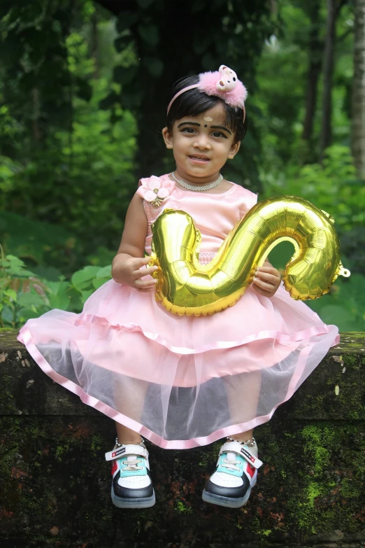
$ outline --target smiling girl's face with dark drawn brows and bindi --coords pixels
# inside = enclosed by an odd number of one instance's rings
[[[234,143],[225,120],[226,111],[219,103],[197,116],[176,120],[171,133],[164,127],[164,141],[173,150],[180,178],[193,183],[214,181],[227,160],[238,153],[241,143]]]

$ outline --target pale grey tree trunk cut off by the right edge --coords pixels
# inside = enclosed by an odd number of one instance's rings
[[[359,177],[365,178],[365,0],[355,0],[351,146]]]

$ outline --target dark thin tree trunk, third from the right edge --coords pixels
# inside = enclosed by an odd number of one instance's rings
[[[317,106],[317,87],[322,66],[322,41],[320,40],[320,1],[310,5],[310,37],[308,49],[308,73],[306,91],[306,115],[304,118],[302,138],[310,141],[313,133],[313,120]]]

